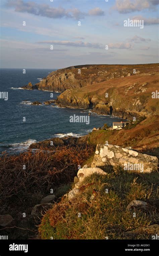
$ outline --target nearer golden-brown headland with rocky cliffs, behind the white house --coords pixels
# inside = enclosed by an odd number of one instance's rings
[[[159,114],[159,100],[152,92],[159,88],[158,71],[119,77],[105,82],[69,89],[58,96],[59,106],[93,108],[99,114],[133,118]]]

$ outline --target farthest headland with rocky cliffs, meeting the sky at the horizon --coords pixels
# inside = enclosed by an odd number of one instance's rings
[[[156,64],[72,66],[53,71],[36,85],[29,83],[22,88],[63,92],[67,89],[89,86],[130,74],[147,73],[150,69],[152,70],[156,67]],[[134,69],[136,69],[136,74],[133,73]]]

